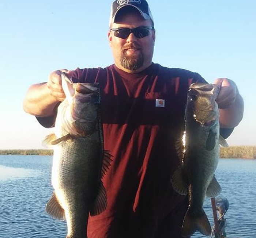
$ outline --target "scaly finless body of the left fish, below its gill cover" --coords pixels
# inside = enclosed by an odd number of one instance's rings
[[[63,141],[54,149],[52,185],[65,210],[69,237],[86,237],[90,207],[99,187],[101,158],[97,132]]]

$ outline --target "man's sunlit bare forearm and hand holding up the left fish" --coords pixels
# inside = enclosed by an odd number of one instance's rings
[[[68,70],[56,70],[50,74],[48,82],[34,84],[29,88],[23,101],[25,112],[38,117],[53,115],[57,103],[65,99],[61,86],[61,72]]]

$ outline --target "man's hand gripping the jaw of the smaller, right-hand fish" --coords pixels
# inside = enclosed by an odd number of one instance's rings
[[[219,108],[225,109],[230,107],[236,100],[237,87],[236,84],[228,78],[217,78],[214,84],[218,84],[221,87],[216,102]]]

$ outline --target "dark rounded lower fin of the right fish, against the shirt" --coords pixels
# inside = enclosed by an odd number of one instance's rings
[[[178,169],[174,172],[172,177],[172,185],[174,190],[181,195],[188,194],[188,179],[184,170],[182,169],[182,166],[178,167]]]

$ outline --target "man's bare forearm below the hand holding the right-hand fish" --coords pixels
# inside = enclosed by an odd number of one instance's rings
[[[222,128],[233,128],[237,126],[244,114],[244,100],[237,92],[236,100],[229,108],[219,109],[219,123]]]

